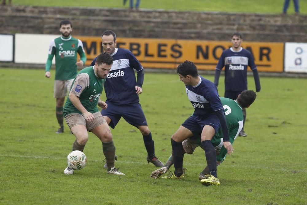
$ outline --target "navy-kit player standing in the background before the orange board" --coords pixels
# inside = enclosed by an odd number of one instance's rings
[[[259,75],[254,57],[248,50],[241,47],[243,41],[240,33],[231,35],[232,47],[223,51],[218,64],[216,65],[214,84],[219,85],[219,78],[223,67],[225,66],[225,98],[235,100],[238,95],[247,90],[247,66],[251,68],[254,74],[256,92],[261,89]],[[243,129],[239,136],[246,137],[244,124],[246,119],[246,110],[243,109]]]

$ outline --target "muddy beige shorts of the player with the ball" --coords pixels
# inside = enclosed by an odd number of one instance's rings
[[[94,115],[93,122],[86,122],[86,119],[84,118],[84,116],[79,113],[68,114],[64,118],[65,118],[65,121],[69,129],[76,125],[84,125],[86,126],[86,129],[88,131],[88,130],[94,129],[95,127],[98,127],[99,125],[103,123],[107,123],[100,112],[95,112],[93,113],[93,115]]]

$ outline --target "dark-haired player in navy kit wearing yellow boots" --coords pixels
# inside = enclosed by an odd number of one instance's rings
[[[185,83],[188,99],[195,110],[192,116],[185,120],[171,137],[175,172],[166,178],[181,179],[184,177],[182,164],[185,152],[182,141],[196,133],[201,133],[201,144],[205,150],[206,161],[210,171],[207,180],[201,183],[204,185],[219,185],[220,181],[216,172],[216,151],[211,139],[220,126],[223,132],[223,145],[228,154],[233,152],[220,96],[214,83],[198,75],[197,68],[193,62],[186,60],[181,63],[177,67],[177,73],[180,76],[180,80]]]

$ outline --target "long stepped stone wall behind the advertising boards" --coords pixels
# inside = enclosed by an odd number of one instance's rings
[[[69,19],[73,34],[228,41],[239,31],[245,41],[307,42],[307,15],[185,12],[109,8],[1,6],[0,33],[59,34]]]

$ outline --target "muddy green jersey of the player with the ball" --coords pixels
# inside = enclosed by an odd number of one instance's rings
[[[99,112],[97,103],[103,91],[104,82],[105,79],[96,76],[94,66],[87,67],[78,73],[72,82],[70,92],[79,97],[81,104],[88,112]],[[67,98],[63,110],[64,117],[72,113],[82,114]]]

